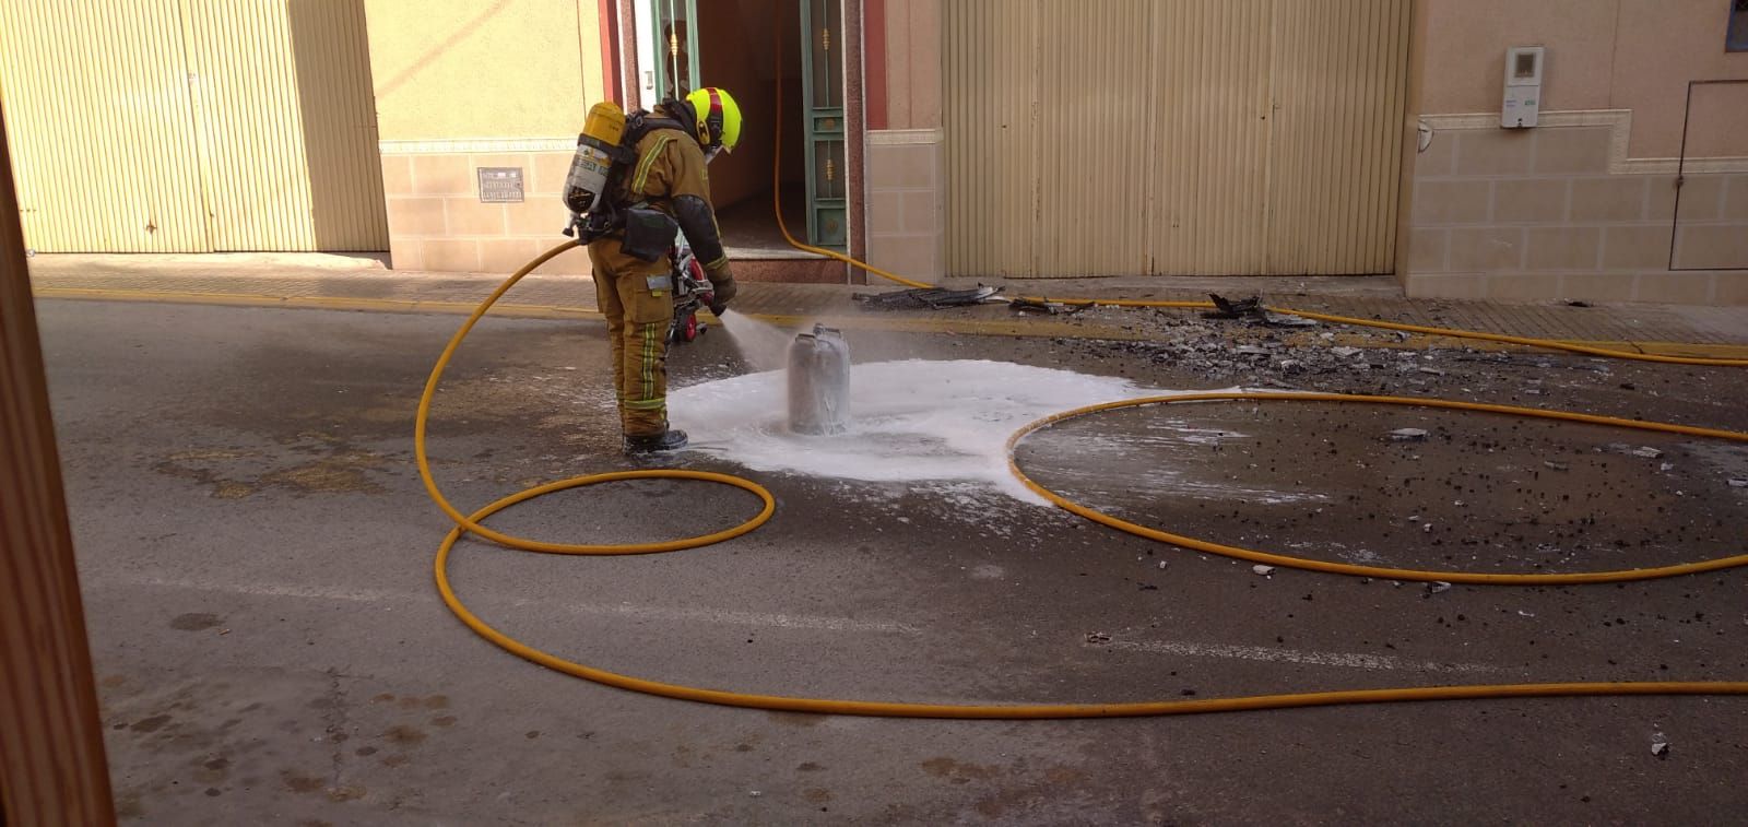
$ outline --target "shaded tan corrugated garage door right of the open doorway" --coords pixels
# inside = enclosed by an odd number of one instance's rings
[[[953,275],[1384,273],[1407,3],[956,0]]]

